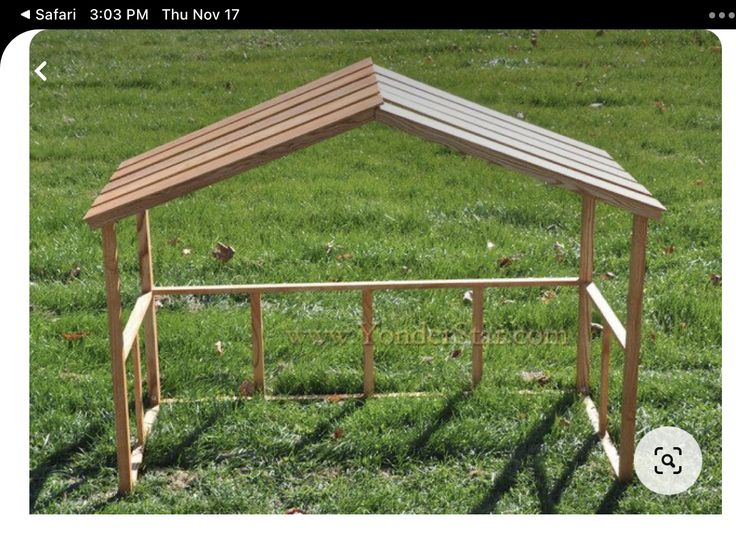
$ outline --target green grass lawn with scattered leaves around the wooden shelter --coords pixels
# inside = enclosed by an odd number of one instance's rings
[[[377,389],[435,395],[167,406],[134,494],[115,496],[100,236],[82,222],[95,193],[121,160],[366,56],[601,146],[668,207],[650,232],[637,437],[663,425],[695,436],[704,465],[689,491],[614,484],[572,394],[577,295],[561,288],[547,304],[540,289],[487,291],[493,330],[552,330],[568,341],[490,346],[472,394],[462,291],[378,293],[380,331],[426,324],[443,341],[379,338]],[[721,511],[713,35],[545,31],[532,47],[527,31],[47,31],[31,48],[31,64],[41,60],[48,81],[31,83],[32,512]],[[159,284],[575,275],[579,199],[372,124],[156,208],[151,221]],[[616,275],[600,284],[623,316],[631,219],[603,205],[597,226],[596,278]],[[119,240],[130,309],[132,221]],[[217,241],[236,249],[227,264],[210,256]],[[555,242],[565,247],[559,260]],[[337,259],[346,253],[352,259]],[[503,256],[514,257],[510,267],[499,266]],[[237,393],[250,367],[245,297],[172,299],[158,316],[166,397]],[[268,296],[264,320],[271,393],[360,391],[358,294]],[[346,338],[298,339],[304,330]],[[88,335],[64,340],[73,331]],[[596,340],[594,376],[598,351]],[[616,349],[615,440],[621,369]],[[550,381],[523,382],[533,370]]]

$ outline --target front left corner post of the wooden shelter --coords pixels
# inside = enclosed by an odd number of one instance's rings
[[[120,274],[115,224],[102,227],[102,255],[107,294],[107,330],[110,336],[112,360],[112,392],[115,408],[115,443],[118,464],[118,489],[121,494],[133,488],[130,465],[130,424],[128,422],[128,389],[123,359],[122,306],[120,302]]]

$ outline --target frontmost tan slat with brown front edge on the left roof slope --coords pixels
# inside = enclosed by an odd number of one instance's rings
[[[124,218],[273,161],[373,120],[374,110],[380,102],[380,97],[376,95],[344,110],[278,134],[245,150],[229,154],[204,167],[192,169],[131,192],[124,198],[95,205],[87,212],[85,220],[93,228],[100,227],[117,218]]]

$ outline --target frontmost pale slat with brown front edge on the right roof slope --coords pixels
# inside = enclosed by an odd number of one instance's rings
[[[662,204],[649,195],[631,191],[544,159],[531,160],[518,150],[392,104],[381,105],[376,112],[376,120],[491,163],[529,174],[553,185],[587,193],[639,215],[659,219],[664,211]]]

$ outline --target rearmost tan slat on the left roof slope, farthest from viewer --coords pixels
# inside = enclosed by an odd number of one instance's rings
[[[357,72],[359,70],[362,70],[366,67],[371,67],[373,65],[373,61],[370,58],[363,59],[355,64],[351,64],[350,66],[347,66],[343,68],[342,70],[338,70],[337,72],[332,72],[331,74],[327,74],[326,76],[323,76],[315,81],[312,81],[310,83],[307,83],[305,85],[302,85],[301,87],[297,87],[293,91],[289,91],[287,93],[283,93],[277,97],[274,97],[272,99],[269,99],[265,102],[261,102],[260,104],[257,104],[253,106],[252,108],[249,108],[243,112],[238,112],[237,114],[231,115],[229,117],[226,117],[225,119],[222,119],[216,123],[213,123],[211,125],[208,125],[206,127],[203,127],[199,130],[196,130],[194,132],[191,132],[189,134],[186,134],[184,136],[181,136],[177,138],[176,140],[172,140],[171,142],[167,142],[166,144],[162,144],[161,146],[158,146],[154,149],[151,149],[149,151],[146,151],[144,153],[141,153],[139,155],[136,155],[135,157],[131,157],[130,159],[123,161],[120,164],[120,168],[125,168],[129,165],[135,164],[143,159],[152,157],[154,155],[157,155],[163,151],[169,150],[171,148],[177,147],[181,144],[184,144],[194,138],[197,138],[199,136],[203,136],[206,134],[211,133],[212,131],[215,131],[217,129],[220,129],[222,127],[231,125],[233,123],[237,123],[238,121],[241,121],[242,119],[246,119],[248,117],[253,116],[254,114],[257,114],[258,112],[261,112],[263,110],[266,110],[268,108],[272,108],[273,106],[276,106],[280,104],[281,102],[287,101],[289,99],[292,99],[294,97],[297,97],[299,95],[308,93],[312,91],[313,89],[317,89],[319,87],[322,87],[324,85],[329,84],[330,82],[343,78],[345,76],[348,76],[352,74],[353,72]]]

